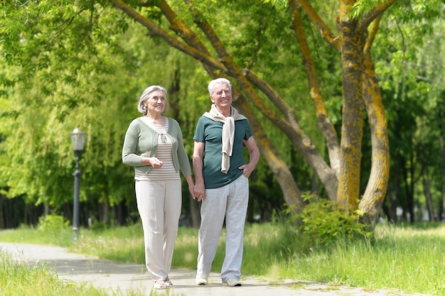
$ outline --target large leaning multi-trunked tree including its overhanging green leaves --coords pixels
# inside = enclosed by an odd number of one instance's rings
[[[109,12],[108,4],[111,3],[124,14]],[[153,40],[163,40],[171,48],[201,62],[210,77],[225,76],[232,80],[234,104],[250,119],[264,160],[279,182],[284,200],[296,212],[304,208],[304,201],[290,170],[291,164],[277,148],[279,143],[272,140],[271,131],[264,128],[267,124],[273,125],[299,150],[329,199],[345,209],[360,209],[364,213],[363,221],[372,224],[380,214],[390,168],[387,121],[372,60],[372,45],[385,11],[397,5],[392,13],[404,21],[404,16],[395,12],[409,9],[410,1],[341,0],[339,6],[334,6],[336,3],[308,0],[263,1],[261,4],[253,0],[82,0],[76,4],[70,1],[34,4],[31,1],[18,5],[14,2],[4,10],[8,22],[18,16],[23,20],[30,12],[32,17],[21,21],[21,26],[6,26],[15,31],[8,31],[1,41],[6,61],[21,66],[22,74],[17,77],[31,75],[35,70],[32,67],[46,69],[53,65],[48,73],[59,70],[65,82],[70,84],[77,81],[73,73],[107,72],[109,62],[102,65],[106,57],[97,58],[101,51],[95,42],[99,40],[112,51],[121,50],[116,36],[119,31],[129,34],[127,30],[135,21],[147,29]],[[440,3],[438,0],[421,1],[412,13],[434,11]],[[333,9],[338,13],[329,18],[332,13],[326,12]],[[39,18],[41,13],[49,13],[50,17]],[[39,22],[45,26],[37,26]],[[41,45],[45,45],[44,50],[36,53],[35,48]],[[79,50],[77,55],[76,48]],[[26,63],[24,53],[31,62]],[[94,57],[92,62],[89,61],[91,57]],[[65,72],[56,67],[65,65],[64,59],[71,63]],[[49,62],[52,60],[60,64]],[[303,70],[298,62],[303,65]],[[326,69],[340,74],[337,89],[323,85],[324,80],[320,77],[328,76]],[[303,75],[306,87],[300,83]],[[96,92],[101,93],[100,86],[105,84],[98,82],[97,77],[101,76],[87,76],[85,82],[95,82]],[[60,81],[54,75],[50,78],[53,84]],[[47,87],[55,88],[55,85]],[[75,94],[73,96],[76,98]],[[301,126],[301,118],[306,114],[299,113],[303,108],[297,102],[309,97],[323,142],[314,142],[313,137],[308,136],[308,128]],[[341,102],[335,102],[338,97]],[[68,104],[95,102],[92,98],[82,98],[81,101],[73,98],[68,99]],[[340,105],[341,128],[338,129],[333,122],[339,111],[336,106]],[[367,174],[361,172],[360,166],[363,163],[365,114],[372,143],[370,172]],[[326,157],[324,149],[327,150]],[[363,175],[369,175],[369,178],[361,192],[360,178]]]

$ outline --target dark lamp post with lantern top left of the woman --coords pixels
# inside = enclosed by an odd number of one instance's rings
[[[73,143],[73,150],[76,156],[76,170],[73,173],[74,176],[74,209],[73,209],[73,241],[77,240],[77,234],[79,232],[79,190],[80,190],[80,170],[79,170],[79,160],[80,155],[83,151],[83,146],[85,146],[85,139],[87,134],[80,131],[79,128],[75,128],[73,133],[71,133],[71,142]]]

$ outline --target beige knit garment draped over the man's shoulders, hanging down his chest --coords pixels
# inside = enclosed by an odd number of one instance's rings
[[[221,161],[221,172],[227,174],[230,168],[230,156],[232,156],[233,139],[235,138],[235,120],[247,119],[238,113],[237,109],[230,106],[230,116],[225,117],[218,111],[215,104],[212,104],[210,112],[205,112],[203,116],[223,123],[223,160]]]

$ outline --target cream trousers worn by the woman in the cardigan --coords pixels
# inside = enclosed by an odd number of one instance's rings
[[[136,180],[135,188],[144,229],[146,268],[155,282],[165,280],[178,236],[181,180]]]

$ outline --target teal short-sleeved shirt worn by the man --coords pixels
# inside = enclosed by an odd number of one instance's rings
[[[238,167],[245,165],[242,154],[242,141],[252,136],[249,121],[247,119],[235,121],[235,138],[233,141],[232,156],[230,157],[230,168],[227,174],[221,172],[221,161],[223,159],[223,123],[213,121],[208,117],[201,116],[196,125],[193,140],[202,142],[204,147],[203,177],[205,189],[223,187],[235,181],[242,175]]]

